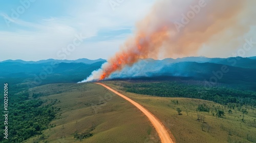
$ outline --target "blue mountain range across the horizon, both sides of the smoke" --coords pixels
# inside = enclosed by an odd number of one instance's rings
[[[52,63],[55,63],[52,65]],[[0,62],[0,82],[47,83],[78,82],[101,67],[106,60],[7,60]],[[228,72],[222,72],[223,66]],[[187,77],[193,80],[243,85],[256,89],[256,56],[250,58],[186,57],[178,59],[141,59],[110,78]],[[40,81],[40,82],[39,82]]]

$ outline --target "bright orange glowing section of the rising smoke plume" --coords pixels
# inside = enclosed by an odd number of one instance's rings
[[[117,70],[121,70],[125,65],[133,65],[139,59],[148,58],[148,53],[153,48],[158,49],[168,37],[166,27],[146,35],[143,32],[138,32],[134,39],[128,40],[125,45],[129,48],[117,52],[109,61],[109,66],[103,69],[103,73],[100,75],[99,80],[103,80],[106,77]],[[132,42],[135,41],[135,42]]]

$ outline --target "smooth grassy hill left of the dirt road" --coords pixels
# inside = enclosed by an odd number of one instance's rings
[[[59,111],[49,129],[25,142],[159,142],[136,107],[100,85],[47,84],[31,89],[30,98],[33,93],[40,93],[45,104],[56,100]]]

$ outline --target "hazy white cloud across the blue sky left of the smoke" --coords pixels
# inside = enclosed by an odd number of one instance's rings
[[[7,59],[41,60],[59,59],[57,51],[67,47],[75,34],[96,36],[102,29],[117,30],[123,27],[134,28],[153,5],[153,1],[124,1],[115,11],[108,1],[97,1],[93,5],[73,5],[67,7],[66,17],[48,17],[40,20],[26,21],[22,17],[12,21],[11,26],[0,31],[0,61]],[[10,18],[7,14],[0,16]],[[11,20],[11,19],[9,19]],[[115,40],[82,44],[67,59],[108,58],[113,55],[125,37]],[[102,52],[101,52],[102,51]]]

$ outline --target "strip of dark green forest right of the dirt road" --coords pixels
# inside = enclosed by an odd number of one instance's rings
[[[121,82],[125,92],[160,97],[184,97],[214,101],[222,105],[255,107],[256,92],[224,86],[206,88],[202,84],[181,81],[162,82]]]

